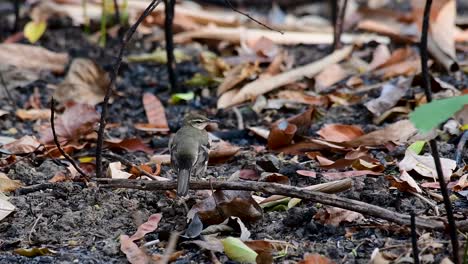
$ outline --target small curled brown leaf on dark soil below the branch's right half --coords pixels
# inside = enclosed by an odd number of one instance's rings
[[[354,222],[364,219],[364,216],[360,213],[341,209],[338,207],[326,206],[324,209],[317,212],[314,219],[318,220],[322,224],[339,226],[343,222]]]

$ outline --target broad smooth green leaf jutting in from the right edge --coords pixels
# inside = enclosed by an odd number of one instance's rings
[[[410,114],[410,120],[417,129],[426,133],[452,117],[465,104],[468,104],[468,95],[434,100],[417,107]]]

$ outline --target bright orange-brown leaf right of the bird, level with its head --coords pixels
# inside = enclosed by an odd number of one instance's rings
[[[317,134],[325,140],[340,143],[356,139],[364,135],[364,132],[355,125],[328,124],[317,131]]]

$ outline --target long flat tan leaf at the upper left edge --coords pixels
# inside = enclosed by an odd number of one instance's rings
[[[69,61],[67,53],[56,53],[42,47],[25,44],[0,44],[2,64],[34,70],[63,73]]]

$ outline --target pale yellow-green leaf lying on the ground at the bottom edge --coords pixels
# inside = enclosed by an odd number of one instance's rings
[[[240,239],[235,237],[227,237],[222,240],[224,253],[237,262],[241,263],[256,263],[257,252],[253,251]]]

